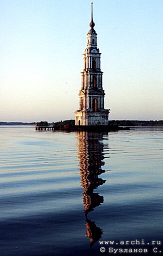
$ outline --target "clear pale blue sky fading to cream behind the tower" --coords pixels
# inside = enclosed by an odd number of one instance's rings
[[[74,119],[88,0],[0,0],[0,121]],[[163,1],[94,0],[109,119],[163,119]]]

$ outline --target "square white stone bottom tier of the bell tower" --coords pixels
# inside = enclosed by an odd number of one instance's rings
[[[100,112],[75,111],[75,125],[108,125],[109,110]]]

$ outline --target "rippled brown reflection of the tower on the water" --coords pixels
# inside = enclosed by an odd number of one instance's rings
[[[83,187],[83,204],[86,217],[86,236],[90,239],[90,246],[101,238],[102,229],[95,225],[94,221],[88,219],[87,214],[93,211],[95,207],[103,203],[103,196],[93,193],[93,190],[99,185],[105,183],[105,180],[98,178],[105,171],[101,169],[104,165],[103,133],[80,132],[78,135],[78,155],[80,160],[81,186]]]

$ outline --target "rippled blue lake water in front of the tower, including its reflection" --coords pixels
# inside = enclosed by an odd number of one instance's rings
[[[0,256],[162,255],[162,134],[0,126]]]

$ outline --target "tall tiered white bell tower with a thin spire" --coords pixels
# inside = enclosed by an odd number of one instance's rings
[[[94,30],[92,3],[90,30],[87,33],[87,47],[83,54],[79,109],[75,111],[75,125],[107,125],[109,109],[104,109],[104,90],[100,53],[97,48],[97,34]]]

